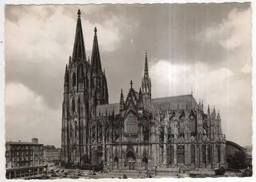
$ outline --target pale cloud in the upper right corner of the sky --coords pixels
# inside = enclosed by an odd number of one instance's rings
[[[244,67],[246,72],[250,73],[248,66],[251,66],[251,18],[249,17],[251,17],[251,9],[246,11],[233,9],[222,23],[198,33],[196,40],[203,43],[218,42],[229,52],[226,60],[223,60],[229,69],[240,71],[241,67]],[[231,64],[234,61],[236,64]]]

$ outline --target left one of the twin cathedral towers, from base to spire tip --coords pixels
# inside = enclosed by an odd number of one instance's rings
[[[87,151],[89,137],[90,69],[84,48],[80,10],[77,15],[73,54],[65,71],[61,138],[63,163],[80,162]]]

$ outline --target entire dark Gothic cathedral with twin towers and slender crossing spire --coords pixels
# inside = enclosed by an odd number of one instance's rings
[[[220,113],[204,113],[193,93],[152,98],[147,54],[136,89],[109,103],[97,29],[87,59],[78,10],[73,54],[66,65],[62,103],[62,164],[103,164],[104,169],[155,171],[185,166],[214,169],[226,163]],[[121,68],[120,68],[121,69]],[[129,84],[129,83],[127,83]]]

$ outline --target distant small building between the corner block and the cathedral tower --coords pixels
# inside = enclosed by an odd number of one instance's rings
[[[44,146],[44,162],[45,164],[54,164],[60,160],[60,152],[53,145]]]

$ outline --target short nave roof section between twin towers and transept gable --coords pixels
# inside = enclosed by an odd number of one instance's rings
[[[105,105],[98,105],[96,107],[96,116],[99,116],[99,112],[101,116],[105,116],[106,112],[112,115],[113,112],[113,108],[114,108],[114,113],[115,115],[119,114],[119,110],[120,110],[120,104],[118,103],[109,103],[109,104],[105,104]]]

